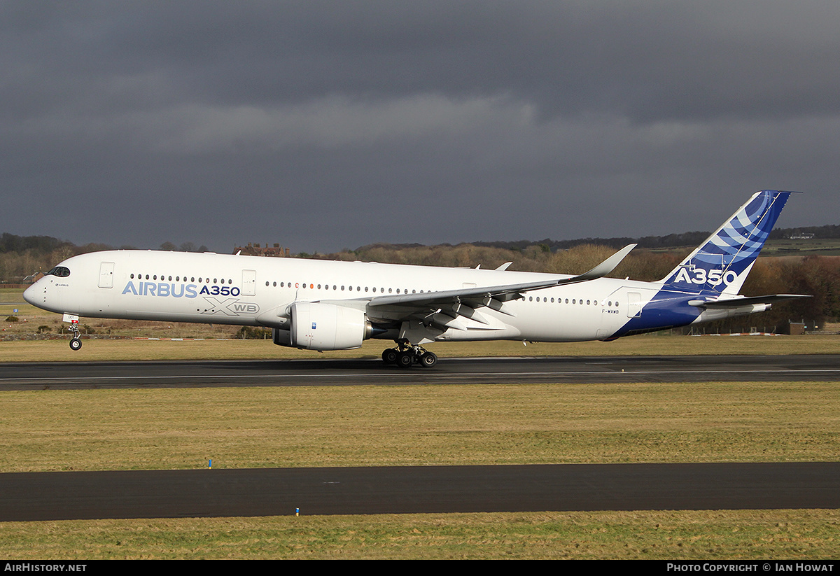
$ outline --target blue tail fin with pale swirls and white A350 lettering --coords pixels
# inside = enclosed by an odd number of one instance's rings
[[[738,294],[791,192],[756,192],[671,270],[665,290]]]

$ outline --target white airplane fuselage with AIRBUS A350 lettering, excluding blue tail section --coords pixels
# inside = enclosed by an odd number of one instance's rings
[[[61,265],[69,275],[47,275],[38,280],[26,291],[27,301],[81,317],[280,328],[288,326],[289,308],[295,302],[341,302],[341,306],[364,310],[371,322],[388,322],[393,306],[391,312],[379,310],[368,306],[371,300],[569,277],[139,250],[81,254]],[[638,315],[660,287],[657,283],[602,278],[529,291],[522,299],[505,302],[502,312],[481,307],[478,319],[459,317],[457,326],[444,329],[433,339],[605,339]]]

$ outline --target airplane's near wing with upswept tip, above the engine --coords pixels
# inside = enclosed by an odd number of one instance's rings
[[[579,282],[586,282],[589,280],[596,280],[603,278],[624,259],[630,250],[634,249],[636,244],[629,244],[619,250],[616,254],[612,254],[609,258],[598,264],[592,270],[584,272],[581,275],[571,276],[570,278],[562,278],[555,280],[545,280],[540,282],[527,282],[523,284],[507,284],[497,286],[477,286],[475,288],[460,288],[458,290],[446,290],[438,292],[423,292],[423,294],[402,294],[396,296],[379,296],[370,299],[368,306],[435,306],[442,304],[450,304],[454,301],[480,300],[485,301],[492,299],[500,302],[509,300],[516,300],[522,297],[522,292],[532,290],[540,290],[543,288],[553,288],[554,286],[562,286],[567,284],[577,284]]]

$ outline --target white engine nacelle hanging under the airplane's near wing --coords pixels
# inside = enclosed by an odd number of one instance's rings
[[[372,327],[365,312],[320,302],[291,305],[291,327],[274,328],[274,343],[307,350],[349,350],[370,338]]]

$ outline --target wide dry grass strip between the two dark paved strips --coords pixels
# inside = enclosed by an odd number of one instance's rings
[[[39,390],[0,470],[834,460],[834,383]]]

